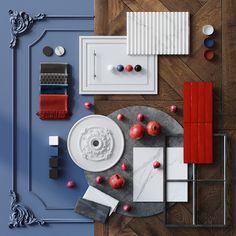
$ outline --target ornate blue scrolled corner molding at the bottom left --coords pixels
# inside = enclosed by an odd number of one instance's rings
[[[26,225],[39,224],[43,225],[45,222],[34,216],[34,213],[23,204],[18,202],[16,193],[10,190],[11,196],[11,215],[9,221],[9,228],[25,227]]]

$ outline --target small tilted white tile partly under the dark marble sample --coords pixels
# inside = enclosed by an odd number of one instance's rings
[[[87,191],[85,192],[84,199],[87,199],[89,201],[93,201],[93,202],[97,202],[100,203],[102,205],[111,207],[110,210],[110,215],[112,214],[112,212],[114,212],[118,206],[119,201],[113,197],[111,197],[110,195],[100,191],[97,188],[94,188],[92,186],[89,186]]]

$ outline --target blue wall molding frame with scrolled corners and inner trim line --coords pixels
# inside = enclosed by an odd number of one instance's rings
[[[16,140],[16,134],[17,134],[17,127],[16,127],[16,120],[17,120],[17,103],[16,103],[16,79],[17,79],[17,39],[19,36],[23,35],[26,33],[32,25],[35,23],[35,21],[43,20],[43,19],[55,19],[55,20],[94,20],[94,16],[88,16],[88,15],[46,15],[44,13],[40,13],[36,15],[35,17],[29,16],[27,13],[23,11],[13,11],[9,10],[9,15],[10,15],[10,23],[11,23],[11,35],[12,39],[10,42],[9,47],[12,49],[12,88],[11,88],[11,93],[12,93],[12,183],[11,183],[11,191],[10,191],[10,196],[12,198],[11,201],[11,214],[10,214],[10,220],[9,220],[9,227],[10,228],[15,228],[15,227],[25,227],[27,225],[32,225],[32,224],[46,224],[46,223],[92,223],[93,220],[90,219],[70,219],[70,218],[43,218],[43,219],[38,219],[34,216],[32,210],[29,208],[25,207],[23,204],[18,202],[17,196],[19,196],[16,193],[17,189],[17,179],[16,179],[16,174],[17,174],[17,153],[15,150],[15,146],[17,144]],[[93,32],[92,30],[78,30],[78,29],[50,29],[50,30],[44,30],[44,32],[40,35],[38,39],[36,39],[29,47],[28,47],[28,75],[29,75],[29,88],[31,87],[31,81],[30,81],[30,76],[31,76],[31,47],[36,45],[44,36],[47,32]],[[30,96],[31,98],[31,96]],[[29,105],[29,116],[31,114],[31,101],[28,103]],[[31,132],[31,120],[29,119],[29,131]],[[30,143],[31,145],[31,143]],[[29,166],[31,165],[31,148],[29,147]],[[29,167],[29,179],[31,178],[31,169]],[[29,189],[31,191],[31,180],[29,180]],[[33,193],[33,192],[32,192]],[[40,199],[37,194],[33,193],[45,206],[45,209],[47,210],[73,210],[73,209],[58,209],[58,208],[50,208],[47,207],[46,204]]]

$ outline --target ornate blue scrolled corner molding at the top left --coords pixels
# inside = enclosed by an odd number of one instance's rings
[[[17,43],[17,39],[20,35],[27,32],[35,21],[43,20],[46,18],[46,14],[39,13],[38,15],[31,17],[27,13],[23,11],[8,11],[10,15],[10,23],[11,23],[11,36],[12,39],[10,41],[10,48],[14,48]]]

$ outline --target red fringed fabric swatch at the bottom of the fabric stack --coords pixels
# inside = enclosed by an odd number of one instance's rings
[[[41,94],[40,109],[37,115],[42,120],[64,120],[70,116],[68,95]]]

